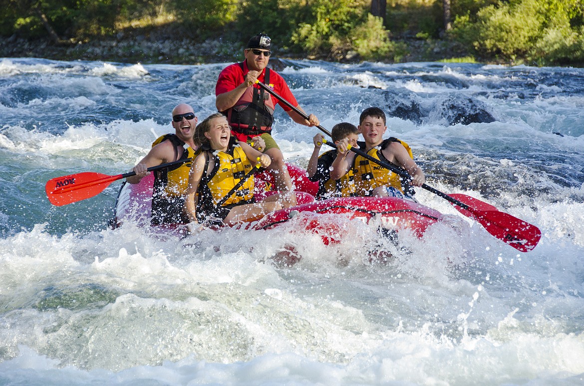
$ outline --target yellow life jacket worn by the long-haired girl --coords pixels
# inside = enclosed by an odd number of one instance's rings
[[[203,201],[210,196],[210,206],[217,205],[232,189],[237,185],[245,174],[252,170],[253,165],[249,162],[241,146],[235,143],[235,138],[231,137],[230,146],[228,146],[227,153],[213,152],[215,156],[215,164],[213,170],[207,176],[201,178],[199,187],[203,188],[203,192],[199,192],[199,201]],[[208,168],[210,157],[207,157],[205,162],[205,169]],[[253,176],[241,185],[235,192],[232,192],[230,197],[221,206],[237,205],[242,201],[249,201],[253,198]],[[201,202],[202,203],[202,202]],[[210,208],[211,208],[210,207]]]

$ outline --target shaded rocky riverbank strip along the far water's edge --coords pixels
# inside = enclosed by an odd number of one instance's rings
[[[399,62],[426,62],[453,60],[465,57],[456,44],[442,40],[402,40],[404,54]],[[48,37],[25,40],[12,36],[0,40],[0,57],[5,58],[46,58],[55,60],[88,60],[142,64],[201,64],[230,62],[241,59],[242,47],[239,43],[217,38],[197,42],[190,38],[176,38],[161,33],[119,33],[116,36],[95,41],[77,41],[54,44]],[[274,57],[293,59],[322,59],[356,63],[360,61],[355,52],[339,52],[335,58],[298,55],[274,47]],[[457,59],[454,59],[457,60]],[[388,61],[390,62],[390,61]]]

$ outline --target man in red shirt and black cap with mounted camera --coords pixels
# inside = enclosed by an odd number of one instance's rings
[[[286,81],[276,71],[266,68],[272,54],[271,44],[272,40],[266,34],[253,36],[249,40],[244,50],[245,60],[229,65],[221,71],[215,85],[217,96],[215,105],[217,110],[227,115],[231,132],[239,141],[253,142],[254,148],[270,156],[272,159],[270,171],[276,180],[276,188],[290,192],[284,196],[282,202],[282,205],[287,207],[296,205],[296,196],[293,194],[292,181],[284,163],[284,156],[270,135],[274,108],[276,104],[280,104],[294,122],[308,127],[317,126],[319,120],[314,114],[308,115],[308,120],[305,120],[296,111],[255,84],[256,80],[265,83],[304,113]],[[258,139],[258,136],[261,139]]]

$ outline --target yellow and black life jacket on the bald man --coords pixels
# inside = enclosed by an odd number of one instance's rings
[[[174,160],[182,160],[190,158],[194,160],[194,157],[200,153],[200,151],[193,150],[190,146],[187,146],[185,142],[181,141],[176,134],[165,134],[159,136],[156,141],[152,142],[152,147],[162,143],[166,140],[172,142],[175,149]],[[178,156],[178,148],[183,148],[185,151],[182,152],[180,157]],[[177,197],[186,194],[187,184],[189,183],[189,171],[190,171],[191,161],[169,167],[166,169],[161,169],[155,171],[154,174],[154,192],[155,195],[164,193],[169,197]]]

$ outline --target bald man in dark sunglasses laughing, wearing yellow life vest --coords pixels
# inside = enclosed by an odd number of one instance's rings
[[[150,152],[132,169],[135,176],[126,178],[130,184],[137,184],[150,174],[149,167],[177,160],[194,159],[198,146],[193,135],[197,125],[194,110],[186,103],[178,104],[172,110],[174,134],[160,136]],[[152,225],[189,223],[184,212],[186,188],[189,181],[190,161],[155,171],[154,191],[152,192]]]

